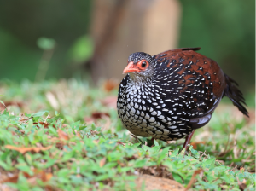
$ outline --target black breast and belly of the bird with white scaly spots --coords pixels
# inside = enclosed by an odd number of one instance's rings
[[[127,75],[119,86],[117,103],[125,128],[136,136],[152,136],[165,141],[188,136],[192,131],[188,120],[177,118],[176,112],[166,107],[169,99],[164,97],[152,79],[134,84]]]

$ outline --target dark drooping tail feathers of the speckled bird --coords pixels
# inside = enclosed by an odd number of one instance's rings
[[[236,87],[236,85],[238,86],[238,84],[228,75],[224,74],[224,76],[227,84],[226,89],[224,90],[224,96],[229,97],[230,100],[233,102],[234,106],[236,106],[241,111],[241,113],[249,117],[246,107],[243,106],[243,104],[245,106],[247,106],[247,104],[245,103],[241,91],[238,90],[238,88]]]

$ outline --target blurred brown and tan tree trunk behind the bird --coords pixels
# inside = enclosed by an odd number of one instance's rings
[[[91,61],[95,83],[124,78],[133,52],[151,55],[174,49],[181,6],[177,0],[95,0],[91,34],[96,49]]]

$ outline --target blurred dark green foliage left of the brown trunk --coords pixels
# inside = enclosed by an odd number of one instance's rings
[[[43,55],[42,46],[37,46],[40,37],[54,39],[56,43],[46,78],[70,78],[80,72],[80,67],[72,66],[69,52],[78,38],[89,33],[91,9],[91,0],[19,1],[15,6],[0,1],[0,78],[35,79]],[[42,43],[44,48],[52,47],[49,41]]]

